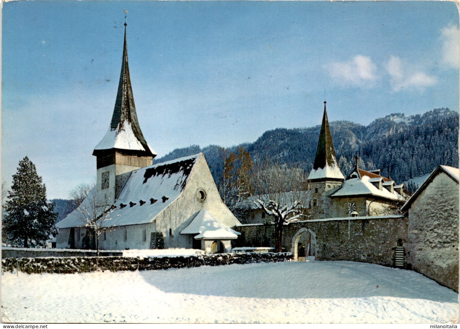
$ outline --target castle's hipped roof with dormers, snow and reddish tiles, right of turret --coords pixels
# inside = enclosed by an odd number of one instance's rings
[[[362,171],[364,172],[364,171]],[[367,173],[367,172],[366,172]],[[375,174],[374,174],[375,175]],[[377,175],[378,176],[378,175]],[[369,196],[376,196],[385,199],[397,200],[402,201],[403,196],[399,193],[390,192],[385,187],[381,190],[376,187],[372,182],[380,181],[380,179],[385,177],[369,177],[367,174],[358,177],[356,171],[351,173],[347,179],[342,183],[340,189],[333,193],[331,197],[348,197],[348,196],[357,196],[357,195],[369,195]],[[393,182],[393,181],[391,181]],[[384,182],[382,185],[391,185],[389,182]],[[394,183],[394,182],[393,182]]]

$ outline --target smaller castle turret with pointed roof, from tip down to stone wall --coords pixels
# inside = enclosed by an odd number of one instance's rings
[[[324,101],[324,114],[322,117],[321,132],[319,134],[318,147],[316,149],[313,169],[308,175],[310,180],[310,210],[311,218],[327,218],[329,209],[329,195],[344,181],[344,175],[340,171],[335,157],[332,143],[331,130],[329,128],[326,101]]]

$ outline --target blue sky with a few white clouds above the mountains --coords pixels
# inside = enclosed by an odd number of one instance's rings
[[[49,198],[95,181],[124,12],[141,129],[163,156],[274,128],[459,108],[449,1],[11,1],[2,10],[2,178],[29,156]]]

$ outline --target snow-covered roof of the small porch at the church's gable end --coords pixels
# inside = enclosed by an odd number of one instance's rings
[[[207,210],[201,210],[180,234],[198,234],[195,239],[236,239],[241,233],[220,223]]]

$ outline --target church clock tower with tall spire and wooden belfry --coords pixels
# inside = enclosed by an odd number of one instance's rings
[[[126,42],[123,45],[120,82],[110,128],[92,153],[97,162],[98,195],[113,203],[133,170],[150,166],[156,156],[139,127],[131,80]],[[102,201],[102,200],[101,200]]]

